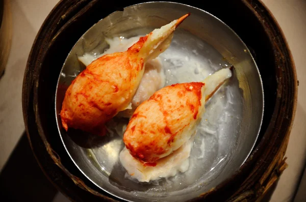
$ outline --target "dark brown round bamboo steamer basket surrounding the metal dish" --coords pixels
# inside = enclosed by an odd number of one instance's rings
[[[213,14],[240,36],[256,60],[265,92],[261,132],[246,162],[231,178],[192,201],[260,201],[287,167],[285,152],[297,101],[296,71],[287,41],[260,1],[177,2]],[[46,177],[73,201],[118,199],[85,178],[64,150],[53,107],[57,78],[71,47],[89,27],[137,3],[141,2],[60,1],[45,19],[29,55],[22,91],[28,138]],[[40,96],[38,86],[44,89]]]

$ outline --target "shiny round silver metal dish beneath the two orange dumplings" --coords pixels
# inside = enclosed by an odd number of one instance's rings
[[[77,56],[85,52],[103,53],[108,48],[105,37],[144,35],[188,12],[191,16],[175,31],[171,46],[160,56],[168,81],[166,85],[194,81],[191,77],[173,79],[177,74],[173,64],[177,61],[171,60],[171,54],[186,58],[186,61],[187,58],[194,60],[207,73],[232,64],[234,76],[206,105],[188,171],[169,179],[137,183],[124,177],[124,168],[118,161],[123,148],[122,132],[128,120],[114,118],[109,126],[116,126],[116,129],[104,137],[70,129],[67,133],[59,117],[64,94],[74,77],[85,68]],[[191,70],[186,67],[186,71]],[[84,34],[63,65],[55,105],[64,146],[75,165],[95,185],[130,201],[185,201],[217,186],[246,160],[262,123],[263,89],[251,54],[228,26],[197,8],[155,2],[112,13]]]

